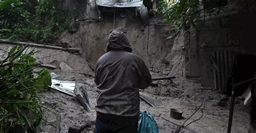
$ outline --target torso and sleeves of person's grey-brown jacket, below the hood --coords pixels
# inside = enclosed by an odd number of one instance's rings
[[[138,116],[139,89],[149,86],[151,75],[137,55],[115,50],[97,61],[95,82],[99,91],[96,111]]]

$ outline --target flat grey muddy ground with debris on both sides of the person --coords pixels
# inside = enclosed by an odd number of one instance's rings
[[[58,62],[55,62],[55,64],[57,65]],[[72,66],[72,64],[68,65]],[[78,66],[84,66],[84,64],[78,64]],[[52,113],[46,110],[45,119],[59,126],[59,129],[55,129],[51,125],[43,122],[38,131],[56,132],[56,130],[60,130],[60,132],[66,132],[70,127],[72,127],[77,129],[84,128],[82,132],[93,132],[96,119],[95,103],[97,96],[96,85],[93,81],[93,77],[90,75],[80,74],[79,69],[75,69],[72,72],[62,72],[58,68],[53,72],[59,75],[59,79],[83,83],[93,106],[91,108],[91,112],[87,112],[75,97],[59,93],[52,89],[41,93],[41,99],[44,105],[58,114],[58,117],[56,118],[56,116],[53,116]],[[194,113],[196,108],[199,107],[201,101],[204,99],[203,106],[201,107],[201,110],[203,110],[204,113],[203,117],[199,121],[188,125],[188,127],[182,131],[226,132],[229,113],[228,106],[223,105],[223,107],[221,107],[220,105],[220,102],[225,95],[220,95],[211,89],[204,89],[201,85],[194,82],[194,80],[183,78],[174,79],[173,82],[170,80],[158,81],[159,87],[149,87],[142,90],[142,92],[147,96],[161,100],[163,108],[153,108],[145,101],[141,100],[140,110],[150,111],[161,132],[171,132],[176,129],[176,125],[165,121],[163,118],[181,125],[186,118]],[[184,112],[183,119],[175,120],[171,118],[170,108],[182,110]],[[242,106],[239,101],[237,102],[234,110],[232,132],[247,131],[249,123],[248,111],[248,108]],[[196,120],[200,116],[201,111],[198,111],[198,113],[196,113],[187,123]]]

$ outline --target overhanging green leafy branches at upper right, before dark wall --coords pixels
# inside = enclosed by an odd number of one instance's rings
[[[218,4],[216,4],[218,3]],[[221,10],[225,11],[223,0],[218,1],[198,1],[198,0],[179,0],[174,3],[167,3],[161,0],[158,11],[169,23],[173,25],[171,36],[177,36],[180,31],[197,29],[204,25],[206,17],[216,16]]]

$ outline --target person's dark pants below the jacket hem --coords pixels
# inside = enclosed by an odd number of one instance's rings
[[[96,133],[138,132],[138,116],[117,116],[97,112]]]

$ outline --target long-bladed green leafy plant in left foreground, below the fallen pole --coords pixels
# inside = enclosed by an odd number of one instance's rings
[[[45,68],[34,71],[35,52],[28,45],[17,45],[0,61],[0,132],[10,132],[17,125],[35,132],[43,120],[37,92],[48,88],[51,76]]]

